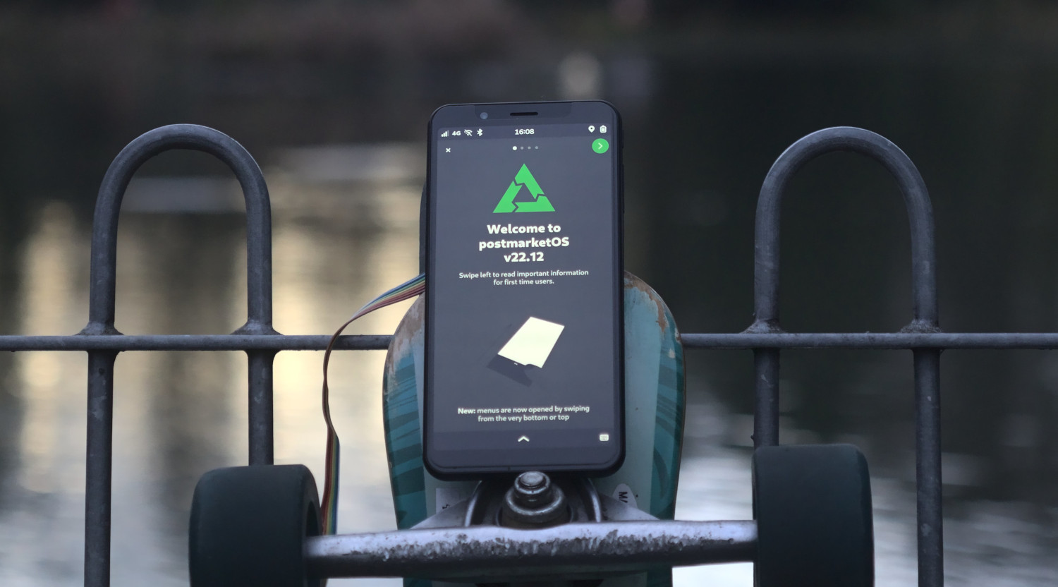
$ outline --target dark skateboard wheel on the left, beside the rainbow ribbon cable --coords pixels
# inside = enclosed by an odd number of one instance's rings
[[[191,500],[194,587],[318,587],[306,576],[306,536],[320,534],[320,500],[302,464],[233,466],[199,479]]]

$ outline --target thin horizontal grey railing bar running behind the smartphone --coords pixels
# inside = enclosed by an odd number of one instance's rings
[[[689,349],[1058,349],[1056,332],[782,332],[682,334]],[[385,350],[388,334],[340,336],[335,350]],[[324,350],[325,334],[0,335],[0,351]]]

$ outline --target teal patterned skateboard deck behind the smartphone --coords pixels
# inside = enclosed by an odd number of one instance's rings
[[[477,487],[477,481],[436,479],[422,464],[424,311],[420,297],[397,327],[383,377],[386,456],[400,529],[470,498]],[[624,463],[592,482],[601,495],[673,519],[683,438],[683,348],[664,301],[630,273],[624,274]],[[416,587],[428,583],[405,580]],[[665,570],[607,579],[603,587],[671,584]]]

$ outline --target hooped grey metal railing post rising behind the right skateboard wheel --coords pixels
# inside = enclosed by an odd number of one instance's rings
[[[933,207],[914,163],[886,137],[852,127],[813,132],[789,146],[772,164],[756,204],[754,242],[755,322],[747,333],[781,333],[779,323],[779,217],[790,178],[805,163],[833,151],[854,151],[881,163],[896,178],[911,223],[911,289],[914,306],[906,333],[940,332],[936,308],[936,255]],[[753,443],[779,443],[779,349],[753,351],[756,412]],[[914,348],[916,405],[916,478],[918,490],[918,584],[944,584],[941,484],[941,350]]]

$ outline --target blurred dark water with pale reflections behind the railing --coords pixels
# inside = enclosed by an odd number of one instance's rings
[[[331,332],[418,272],[425,125],[455,102],[601,97],[625,124],[627,269],[685,332],[752,320],[756,192],[828,126],[879,132],[926,179],[941,325],[1058,331],[1058,4],[934,0],[6,2],[0,6],[0,333],[88,319],[95,190],[142,132],[240,141],[272,195],[275,327]],[[117,328],[226,333],[245,319],[237,184],[201,153],[144,166],[121,220]],[[910,320],[908,223],[877,164],[832,154],[783,210],[784,326]],[[360,320],[389,333],[404,306]],[[395,527],[384,353],[332,363],[340,531]],[[322,353],[275,362],[276,461],[323,478]],[[0,355],[0,584],[81,581],[83,353]],[[688,354],[677,515],[748,518],[752,357]],[[185,585],[190,494],[244,462],[245,359],[129,352],[116,364],[114,585]],[[785,442],[854,442],[874,475],[879,585],[915,581],[908,351],[783,353]],[[1058,582],[1058,355],[942,360],[949,585]],[[678,585],[750,585],[749,565]],[[339,582],[335,582],[339,583]],[[396,585],[394,580],[349,584]]]

